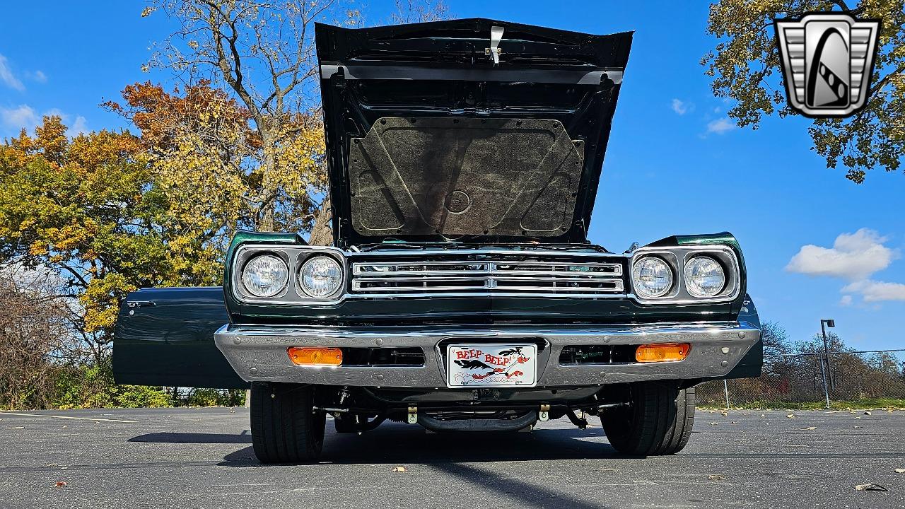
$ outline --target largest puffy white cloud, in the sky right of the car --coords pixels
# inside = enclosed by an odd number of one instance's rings
[[[877,232],[862,228],[837,236],[833,247],[803,245],[786,265],[786,271],[860,281],[899,257],[898,251],[883,245],[886,240]]]

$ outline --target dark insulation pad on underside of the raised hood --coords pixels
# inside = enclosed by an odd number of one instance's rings
[[[558,120],[382,118],[349,149],[360,235],[562,235],[584,145]]]

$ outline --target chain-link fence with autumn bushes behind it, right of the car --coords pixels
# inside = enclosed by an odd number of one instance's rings
[[[765,355],[760,377],[705,382],[697,398],[711,408],[905,407],[905,350]]]

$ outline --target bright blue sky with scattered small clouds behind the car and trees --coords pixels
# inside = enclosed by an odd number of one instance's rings
[[[391,4],[372,0],[365,9],[372,20],[386,19]],[[633,241],[728,230],[745,251],[748,291],[761,317],[781,322],[793,340],[819,331],[821,318],[834,318],[836,332],[855,348],[905,348],[905,175],[874,171],[854,185],[810,149],[810,122],[802,118],[734,128],[699,64],[715,44],[705,32],[706,3],[449,5],[457,17],[596,34],[634,31],[593,242],[621,252]],[[119,98],[129,83],[169,79],[141,72],[149,46],[172,29],[162,15],[141,18],[143,7],[5,6],[0,138],[45,113],[61,114],[76,130],[126,127],[98,104]]]

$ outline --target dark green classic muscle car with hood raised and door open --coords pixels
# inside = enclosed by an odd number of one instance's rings
[[[255,455],[305,462],[328,415],[339,433],[594,416],[621,453],[673,454],[695,385],[760,374],[732,235],[587,239],[595,199],[626,191],[597,185],[631,33],[465,19],[316,40],[334,244],[241,232],[222,288],[130,293],[120,383],[250,384]]]

